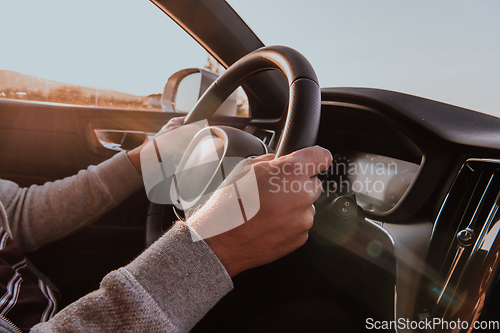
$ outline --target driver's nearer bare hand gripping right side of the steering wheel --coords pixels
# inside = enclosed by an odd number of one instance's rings
[[[279,259],[306,242],[314,221],[312,204],[322,191],[321,181],[313,176],[330,166],[332,155],[315,146],[278,159],[269,154],[250,161],[259,189],[258,213],[232,230],[205,239],[231,277]],[[223,202],[230,195],[225,188],[218,190],[187,223],[196,229],[227,219]]]

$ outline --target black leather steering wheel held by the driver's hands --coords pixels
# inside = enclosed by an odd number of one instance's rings
[[[276,147],[276,158],[295,150],[309,147],[316,142],[321,96],[316,73],[309,61],[299,52],[285,46],[269,46],[257,49],[242,57],[224,72],[198,100],[184,120],[184,124],[209,119],[225,99],[252,75],[278,70],[288,80],[288,108],[282,117],[282,131]],[[229,143],[240,150],[240,156],[248,157],[262,154],[255,146],[262,146],[259,139],[247,132],[220,126],[227,134]],[[252,141],[254,144],[252,144]],[[258,142],[256,145],[255,142]],[[238,144],[236,144],[238,143]],[[242,143],[246,147],[242,150]],[[163,205],[150,205],[146,224],[146,243],[149,245],[162,234]]]

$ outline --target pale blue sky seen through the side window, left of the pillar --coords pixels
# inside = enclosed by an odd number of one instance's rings
[[[0,34],[0,69],[135,95],[207,62],[147,0],[0,0]]]

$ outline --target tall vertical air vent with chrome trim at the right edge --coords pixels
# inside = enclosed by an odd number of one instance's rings
[[[479,316],[497,274],[499,192],[500,161],[463,165],[434,226],[421,316],[469,323]]]

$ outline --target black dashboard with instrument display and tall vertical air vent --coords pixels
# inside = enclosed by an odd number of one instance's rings
[[[372,288],[394,297],[386,313],[498,320],[498,302],[489,309],[478,304],[499,294],[493,286],[500,241],[492,241],[498,235],[499,125],[498,118],[411,95],[322,91],[318,144],[334,155],[322,176],[332,181],[325,191],[354,195],[366,214],[364,221],[342,223],[332,217],[330,204],[315,220],[313,239],[339,244],[379,267],[379,274],[393,273],[379,276]],[[393,251],[392,264],[374,245]],[[358,274],[365,269],[359,264]],[[380,297],[359,293],[369,304],[384,306]]]

